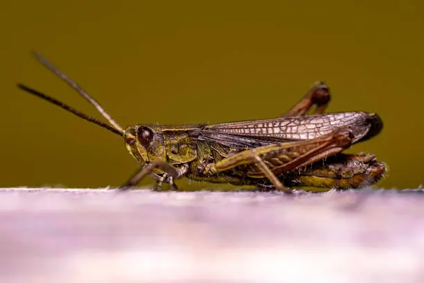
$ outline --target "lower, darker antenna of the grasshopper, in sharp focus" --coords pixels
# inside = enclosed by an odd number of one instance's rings
[[[25,85],[22,85],[20,83],[17,84],[17,87],[19,87],[20,89],[24,90],[25,92],[28,92],[30,94],[33,94],[33,95],[38,96],[40,98],[43,98],[44,100],[46,100],[48,102],[51,102],[51,103],[53,103],[55,105],[58,105],[60,108],[63,108],[64,110],[67,110],[67,111],[75,114],[76,116],[78,116],[78,117],[80,117],[82,119],[85,119],[85,120],[87,120],[87,121],[89,121],[91,123],[95,123],[95,124],[97,124],[100,127],[107,128],[107,130],[110,130],[111,132],[114,132],[116,135],[120,135],[121,137],[123,137],[125,135],[125,132],[123,130],[118,129],[118,128],[115,128],[114,126],[109,125],[108,123],[99,121],[98,119],[96,119],[94,117],[90,117],[90,116],[88,116],[88,115],[86,115],[86,114],[84,114],[84,113],[76,110],[75,108],[72,108],[71,106],[69,106],[69,105],[67,105],[67,104],[65,104],[63,102],[58,101],[57,99],[55,99],[55,98],[53,98],[51,96],[48,96],[46,94],[42,94],[41,92],[38,92],[37,90],[32,89],[30,87],[26,87]]]

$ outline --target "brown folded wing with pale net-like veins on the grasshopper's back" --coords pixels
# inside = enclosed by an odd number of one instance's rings
[[[355,143],[364,139],[373,126],[373,119],[376,116],[366,112],[338,112],[221,123],[202,128],[199,139],[247,149],[287,141],[315,139],[339,128],[349,127],[353,130]],[[379,117],[378,120],[381,121]],[[378,132],[380,130],[381,128]],[[376,133],[373,134],[376,135]]]

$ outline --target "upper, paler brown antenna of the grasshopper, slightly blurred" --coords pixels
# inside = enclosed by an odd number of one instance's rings
[[[100,112],[100,114],[102,114],[103,117],[105,117],[107,119],[107,121],[109,121],[109,123],[112,124],[112,126],[114,126],[116,129],[123,132],[122,127],[119,126],[118,123],[116,123],[116,121],[114,119],[112,119],[112,117],[110,117],[109,114],[107,114],[106,110],[103,109],[103,107],[94,98],[92,98],[89,94],[87,94],[87,92],[85,92],[85,90],[82,89],[82,87],[80,87],[80,85],[78,85],[73,80],[68,78],[67,75],[63,74],[62,71],[60,71],[60,69],[58,69],[53,64],[51,64],[51,62],[48,62],[48,60],[46,58],[44,58],[42,55],[40,55],[38,52],[33,51],[33,55],[34,55],[35,58],[37,58],[37,60],[40,63],[42,63],[42,65],[44,67],[46,67],[48,70],[52,71],[54,74],[56,74],[57,76],[62,78],[62,80],[64,80],[64,82],[66,82],[70,87],[75,89],[78,92],[78,94],[80,94],[82,97],[87,99],[87,101],[89,101],[89,103],[94,105],[94,107],[97,109],[97,111]]]

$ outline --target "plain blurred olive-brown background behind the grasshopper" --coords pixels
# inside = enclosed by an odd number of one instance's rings
[[[351,149],[389,164],[379,186],[416,188],[423,9],[420,0],[1,1],[0,187],[116,186],[136,169],[118,136],[15,87],[100,117],[31,58],[37,50],[123,126],[278,117],[326,80],[328,111],[382,117],[381,134]]]

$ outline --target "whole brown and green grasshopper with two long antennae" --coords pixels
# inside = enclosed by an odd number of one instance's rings
[[[125,130],[82,87],[39,53],[35,58],[87,99],[109,123],[90,117],[57,99],[18,84],[24,91],[60,106],[76,116],[123,137],[140,168],[119,187],[135,187],[146,175],[155,190],[164,183],[178,190],[175,180],[249,185],[292,192],[294,187],[346,189],[377,182],[386,167],[371,154],[348,155],[352,144],[382,130],[376,113],[325,113],[330,89],[317,82],[282,117],[208,125],[137,124]],[[307,114],[314,109],[312,114]]]

